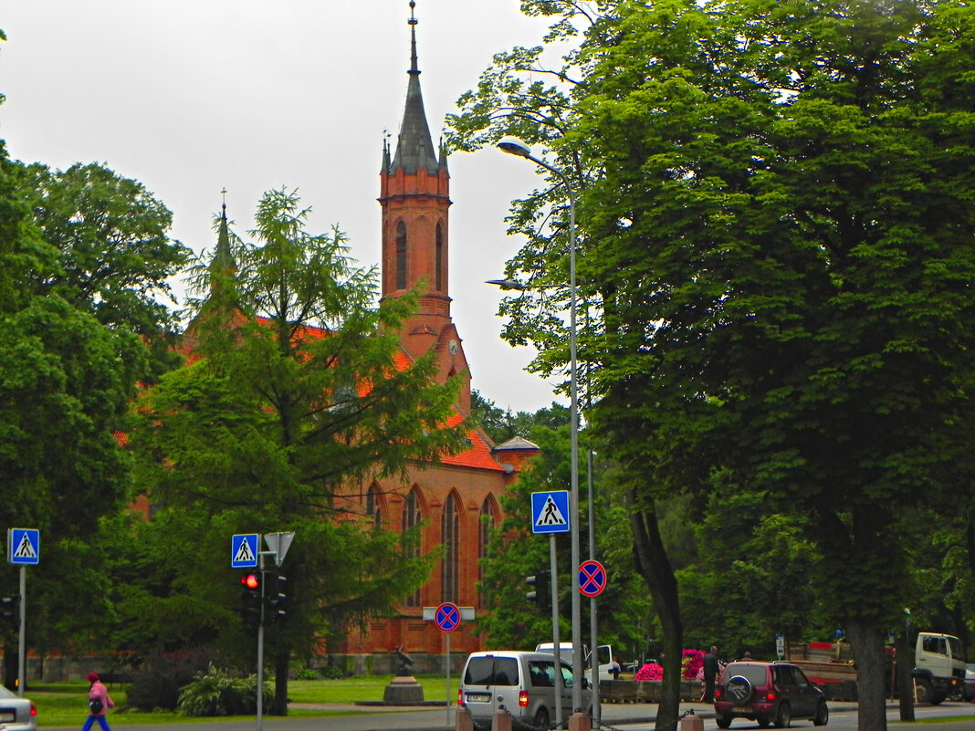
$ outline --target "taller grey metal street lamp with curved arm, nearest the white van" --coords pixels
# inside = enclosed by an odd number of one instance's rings
[[[571,491],[569,492],[569,540],[571,542],[572,563],[572,712],[583,712],[582,708],[582,602],[579,597],[579,372],[576,365],[575,344],[575,195],[568,176],[558,168],[553,168],[531,154],[524,142],[505,139],[498,142],[498,149],[509,155],[530,160],[549,173],[558,175],[565,183],[568,195],[568,359],[569,359],[569,423]],[[592,648],[595,652],[596,648]],[[594,658],[595,660],[595,658]]]

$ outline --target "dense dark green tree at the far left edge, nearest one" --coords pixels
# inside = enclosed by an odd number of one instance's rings
[[[42,533],[29,639],[87,649],[86,629],[108,607],[86,542],[130,496],[130,459],[116,435],[148,358],[131,329],[106,327],[45,289],[62,276],[61,260],[33,220],[21,173],[0,149],[0,518]],[[13,569],[3,573],[13,585]],[[69,596],[92,596],[87,611],[65,606]]]

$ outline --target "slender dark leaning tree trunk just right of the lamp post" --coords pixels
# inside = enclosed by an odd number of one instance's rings
[[[637,571],[643,577],[660,617],[663,631],[664,680],[657,707],[656,731],[674,731],[681,712],[681,653],[683,624],[678,599],[677,577],[660,538],[660,526],[652,502],[636,504],[632,490],[627,493],[633,526],[633,554]]]

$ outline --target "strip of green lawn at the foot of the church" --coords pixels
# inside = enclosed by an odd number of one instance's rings
[[[392,675],[359,675],[341,680],[292,680],[288,683],[288,696],[292,703],[354,704],[358,701],[381,701],[383,690]],[[443,701],[447,692],[447,680],[443,675],[417,675],[423,686],[423,698],[427,701]],[[109,712],[112,726],[132,723],[180,723],[197,722],[205,718],[190,718],[171,712],[141,712],[126,708],[124,686],[108,689],[116,708]],[[450,677],[450,700],[456,698],[457,678]],[[88,715],[88,683],[84,680],[68,682],[33,681],[27,687],[26,697],[37,705],[37,723],[40,726],[78,726]],[[321,716],[344,712],[299,709],[291,715]],[[240,717],[240,716],[238,716]],[[251,718],[253,716],[244,716]],[[242,718],[242,719],[243,719]],[[221,716],[220,720],[232,717]]]

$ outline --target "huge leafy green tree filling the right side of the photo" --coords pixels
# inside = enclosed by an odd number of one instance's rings
[[[455,130],[461,146],[548,142],[575,181],[579,282],[603,333],[580,341],[596,366],[590,417],[629,489],[665,638],[682,627],[658,501],[726,471],[804,518],[817,589],[858,658],[861,728],[883,728],[904,518],[971,484],[973,11],[526,6],[576,21],[567,90],[520,82],[536,52],[496,57]],[[516,205],[530,235],[509,278],[539,277],[539,262],[564,272],[564,208],[554,237],[535,230],[564,206],[553,191]],[[542,366],[565,363],[552,308],[512,307],[508,335],[535,341]]]

